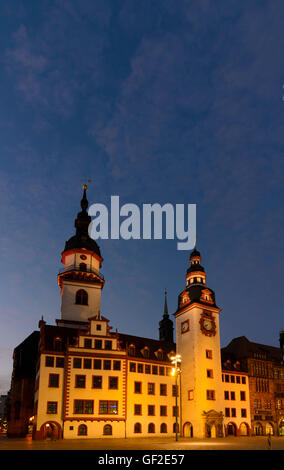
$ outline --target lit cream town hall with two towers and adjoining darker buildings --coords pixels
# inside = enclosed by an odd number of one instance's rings
[[[101,312],[102,256],[86,186],[58,274],[61,316],[14,350],[8,436],[34,439],[284,434],[282,347],[245,337],[220,349],[220,308],[200,252],[159,339],[120,333]],[[283,336],[283,335],[282,335]]]

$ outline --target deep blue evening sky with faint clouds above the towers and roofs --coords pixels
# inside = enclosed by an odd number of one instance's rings
[[[2,0],[0,393],[13,348],[60,317],[60,254],[89,202],[197,204],[221,345],[283,318],[282,0]],[[188,252],[99,243],[102,313],[158,337]]]

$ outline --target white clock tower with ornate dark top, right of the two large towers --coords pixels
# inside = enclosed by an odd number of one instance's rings
[[[194,248],[186,286],[178,297],[177,353],[181,355],[182,435],[223,436],[223,390],[219,312],[207,287],[200,252]]]

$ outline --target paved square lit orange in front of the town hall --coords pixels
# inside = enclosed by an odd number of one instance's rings
[[[268,450],[267,437],[225,437],[223,439],[129,438],[63,439],[33,441],[31,437],[0,437],[0,450]],[[284,450],[284,436],[272,437],[272,450]]]

